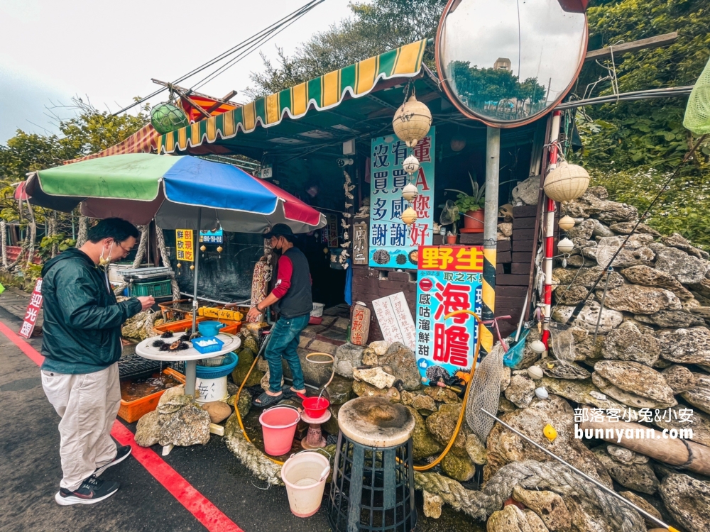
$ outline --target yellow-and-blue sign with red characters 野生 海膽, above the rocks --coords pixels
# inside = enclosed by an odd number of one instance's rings
[[[481,316],[484,253],[481,246],[421,246],[417,272],[417,366],[422,381],[468,372],[474,363]]]

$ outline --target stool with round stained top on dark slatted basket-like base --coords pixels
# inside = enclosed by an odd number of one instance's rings
[[[414,416],[383,397],[360,397],[342,406],[338,426],[327,501],[333,531],[412,531]]]

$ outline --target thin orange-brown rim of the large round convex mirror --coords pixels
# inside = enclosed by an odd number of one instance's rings
[[[507,128],[517,128],[518,126],[525,126],[525,124],[531,123],[536,121],[539,118],[542,118],[542,116],[545,116],[547,113],[550,113],[555,110],[555,107],[559,104],[562,99],[564,99],[567,94],[569,94],[569,91],[572,90],[572,86],[574,85],[574,82],[577,81],[577,78],[579,77],[579,72],[581,72],[581,67],[584,65],[584,57],[586,56],[586,53],[584,56],[581,57],[579,60],[579,65],[577,65],[577,72],[574,74],[574,77],[572,77],[572,80],[569,82],[569,85],[567,85],[567,88],[564,89],[560,93],[559,96],[557,96],[557,99],[550,104],[550,106],[547,106],[545,109],[542,111],[538,111],[532,116],[528,116],[527,118],[521,118],[520,120],[514,120],[514,121],[509,121],[509,122],[499,122],[499,121],[493,121],[491,120],[491,117],[489,116],[484,116],[478,113],[475,113],[468,107],[466,107],[463,102],[459,100],[459,97],[454,93],[451,87],[449,87],[449,84],[447,82],[447,79],[442,79],[442,76],[444,75],[444,67],[442,64],[442,54],[441,54],[441,43],[442,43],[442,31],[444,30],[444,21],[446,20],[447,14],[449,11],[454,8],[456,9],[459,4],[461,4],[461,1],[464,0],[448,0],[446,6],[444,6],[444,12],[442,13],[442,18],[439,19],[439,27],[437,28],[437,37],[436,37],[436,42],[435,42],[435,62],[437,65],[437,74],[439,76],[439,85],[443,87],[444,89],[444,94],[447,95],[449,98],[449,101],[451,101],[452,104],[461,112],[466,118],[471,118],[473,120],[477,120],[480,122],[483,122],[486,124],[486,126],[489,126],[491,128],[499,128],[499,129],[507,129]],[[478,1],[491,1],[491,0],[478,0]],[[558,0],[559,1],[559,0]],[[562,4],[560,3],[560,8],[562,9]],[[566,11],[563,9],[563,11]],[[589,45],[589,21],[587,20],[586,17],[586,11],[584,11],[584,48],[586,49],[587,46]]]

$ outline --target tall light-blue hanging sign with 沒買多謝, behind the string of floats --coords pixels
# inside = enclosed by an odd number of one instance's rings
[[[432,244],[434,215],[435,128],[413,150],[394,135],[372,139],[370,157],[370,267],[417,267],[417,247]],[[408,155],[417,157],[420,169],[413,174],[419,195],[412,207],[417,221],[406,226],[401,220],[408,202],[402,189],[409,175],[402,168]]]

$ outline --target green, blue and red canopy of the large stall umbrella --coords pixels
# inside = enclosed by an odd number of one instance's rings
[[[92,218],[116,216],[164,229],[261,233],[286,223],[294,233],[325,226],[325,216],[244,170],[196,157],[132,153],[111,155],[33,172],[23,192],[33,205],[70,212],[80,205]]]

